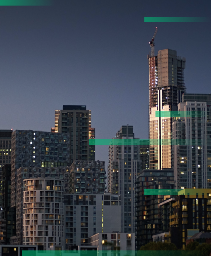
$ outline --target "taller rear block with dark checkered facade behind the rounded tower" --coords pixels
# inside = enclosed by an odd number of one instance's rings
[[[15,130],[11,145],[11,207],[15,207],[17,169],[68,166],[69,134]]]

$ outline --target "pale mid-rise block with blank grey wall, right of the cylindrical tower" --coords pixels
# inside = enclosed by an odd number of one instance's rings
[[[120,232],[120,216],[119,195],[65,194],[65,249],[88,246],[96,233]]]

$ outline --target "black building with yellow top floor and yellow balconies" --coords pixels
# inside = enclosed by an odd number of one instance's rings
[[[210,189],[184,189],[178,192],[172,203],[168,242],[184,249],[186,240],[194,233],[211,231],[210,192]]]

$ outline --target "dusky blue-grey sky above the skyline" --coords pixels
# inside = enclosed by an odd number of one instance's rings
[[[208,16],[211,1],[59,0],[0,6],[0,129],[50,131],[54,110],[86,105],[96,138],[122,125],[148,138],[147,54],[186,57],[187,93],[211,93],[211,22],[144,23],[144,16]],[[211,19],[210,19],[211,21]],[[96,160],[108,163],[108,146]]]

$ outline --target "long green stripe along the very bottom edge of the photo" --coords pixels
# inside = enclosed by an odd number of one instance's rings
[[[95,247],[96,248],[96,247]],[[123,251],[118,250],[118,246],[114,246],[115,250],[82,250],[82,251],[22,251],[23,256],[204,256],[204,251],[167,251],[167,250],[151,250],[151,251]]]

